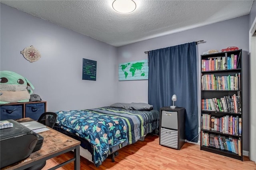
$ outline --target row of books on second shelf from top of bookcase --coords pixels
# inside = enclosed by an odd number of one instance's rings
[[[202,90],[240,90],[240,73],[227,76],[215,76],[214,74],[202,75]]]

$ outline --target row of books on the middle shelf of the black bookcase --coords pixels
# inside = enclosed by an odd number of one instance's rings
[[[237,92],[238,95],[234,94],[232,96],[223,96],[220,99],[202,99],[202,110],[208,111],[220,111],[229,113],[242,113],[240,91]]]

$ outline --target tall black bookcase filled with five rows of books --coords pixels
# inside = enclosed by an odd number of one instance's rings
[[[200,149],[243,160],[242,49],[201,55]]]

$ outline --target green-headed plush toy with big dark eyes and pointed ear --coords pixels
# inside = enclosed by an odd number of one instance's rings
[[[34,86],[23,76],[12,71],[0,71],[0,104],[29,102]]]

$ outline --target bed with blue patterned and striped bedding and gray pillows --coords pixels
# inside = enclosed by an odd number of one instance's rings
[[[96,167],[128,144],[157,132],[159,112],[146,103],[114,103],[109,107],[58,111],[54,129],[81,142],[80,155]]]

